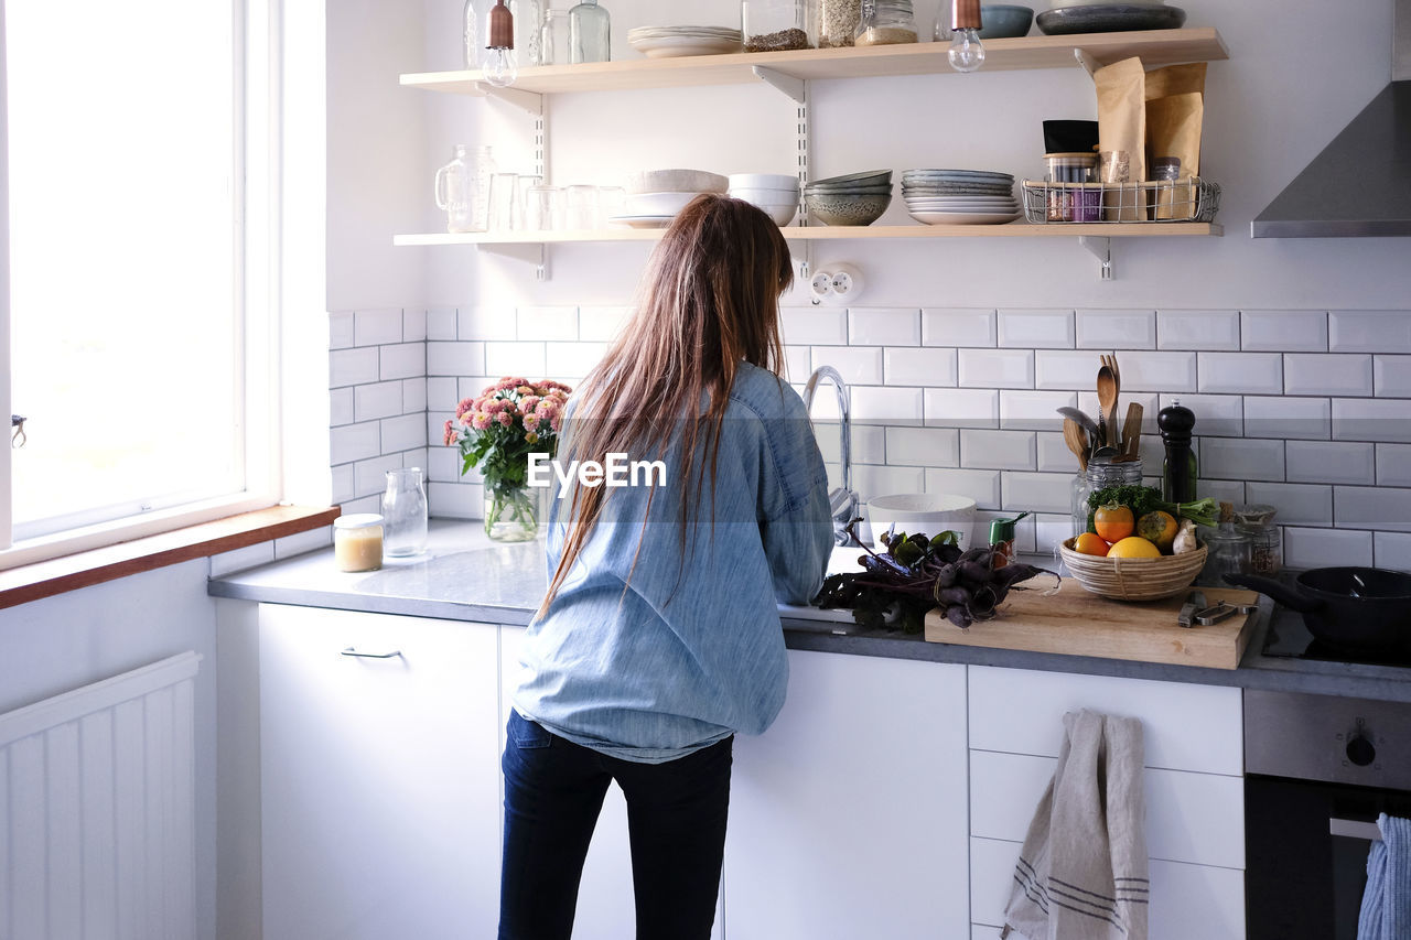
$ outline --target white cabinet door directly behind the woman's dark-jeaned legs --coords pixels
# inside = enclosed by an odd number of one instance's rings
[[[523,627],[501,628],[501,668],[504,677],[501,690],[499,744],[504,748],[505,728],[509,718],[509,697],[518,685],[521,670],[519,644]],[[501,779],[501,785],[504,781]],[[722,936],[720,906],[715,909],[715,926],[711,937]],[[598,826],[593,830],[593,843],[583,864],[583,881],[579,884],[579,909],[573,917],[574,940],[626,940],[636,933],[636,913],[632,900],[632,848],[628,843],[626,802],[617,783],[608,786],[602,800]]]

